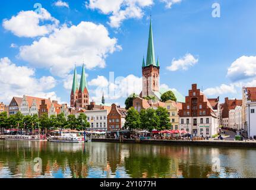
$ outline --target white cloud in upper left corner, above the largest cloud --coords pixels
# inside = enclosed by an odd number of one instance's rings
[[[50,24],[40,25],[40,22],[47,21]],[[10,20],[5,19],[2,24],[5,30],[11,31],[18,37],[45,36],[56,29],[58,25],[59,21],[44,8],[42,8],[42,14],[37,14],[34,11],[20,11]]]

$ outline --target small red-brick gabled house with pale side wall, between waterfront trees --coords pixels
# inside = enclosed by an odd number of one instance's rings
[[[127,110],[113,104],[108,114],[108,131],[120,131],[124,127]]]

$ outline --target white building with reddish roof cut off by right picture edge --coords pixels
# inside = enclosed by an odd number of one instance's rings
[[[248,137],[256,135],[256,87],[243,87],[243,124]]]

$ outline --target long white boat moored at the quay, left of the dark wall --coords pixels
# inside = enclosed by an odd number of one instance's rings
[[[84,138],[77,137],[77,134],[62,134],[61,136],[50,137],[48,141],[54,143],[84,143]]]

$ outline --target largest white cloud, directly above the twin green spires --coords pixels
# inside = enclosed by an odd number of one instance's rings
[[[65,77],[74,68],[104,68],[105,59],[119,50],[115,38],[110,38],[102,24],[82,21],[77,26],[62,26],[49,37],[35,40],[30,46],[21,46],[19,57],[39,68],[50,68],[53,75]]]

